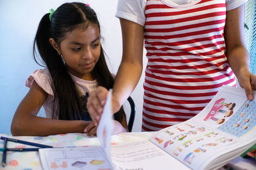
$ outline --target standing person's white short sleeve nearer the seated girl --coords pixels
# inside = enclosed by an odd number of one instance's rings
[[[147,0],[118,0],[116,17],[145,25],[145,6]]]

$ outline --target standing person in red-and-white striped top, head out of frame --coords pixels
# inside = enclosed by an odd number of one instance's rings
[[[143,131],[159,131],[201,111],[222,85],[236,86],[253,99],[256,76],[248,69],[243,42],[245,0],[118,1],[123,58],[113,87],[118,110],[140,80],[143,41],[147,50]],[[132,69],[130,69],[132,67]],[[88,99],[95,125],[107,90]]]

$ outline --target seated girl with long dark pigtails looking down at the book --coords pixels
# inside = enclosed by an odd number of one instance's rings
[[[34,71],[26,81],[30,90],[15,112],[12,134],[47,136],[84,132],[85,127],[95,134],[87,97],[99,85],[113,88],[114,82],[100,45],[95,11],[83,3],[65,3],[45,14],[35,36],[35,60],[36,52],[47,68]],[[46,118],[36,117],[42,106]],[[124,110],[114,117],[116,132],[125,131]]]

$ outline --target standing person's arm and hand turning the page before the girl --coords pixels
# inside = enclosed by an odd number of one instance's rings
[[[116,74],[112,94],[113,113],[116,113],[130,96],[143,68],[143,26],[129,20],[120,19],[123,39],[123,57]],[[97,88],[88,98],[87,108],[95,125],[99,124],[108,90]]]

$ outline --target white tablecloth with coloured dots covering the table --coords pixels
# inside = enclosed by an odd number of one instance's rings
[[[135,141],[142,141],[152,136],[154,132],[132,132],[132,133],[121,133],[112,136],[111,145],[118,145],[121,143],[131,143]],[[13,138],[7,134],[0,134],[0,136]],[[99,140],[95,137],[88,137],[86,134],[72,133],[72,134],[60,134],[54,136],[17,136],[15,139],[24,141],[31,141],[33,143],[41,143],[45,145],[51,145],[54,147],[66,147],[66,146],[99,146]],[[3,140],[0,140],[0,147],[3,148]],[[8,148],[33,148],[33,146],[23,145],[19,143],[13,143],[8,141]],[[0,152],[0,162],[2,160],[3,152]],[[8,152],[6,156],[6,167],[0,166],[0,169],[21,169],[21,170],[34,170],[42,169],[40,164],[40,157],[38,152]],[[256,162],[253,159],[243,159],[237,157],[237,159],[230,162],[234,170],[256,169]],[[224,168],[221,168],[223,170]]]

